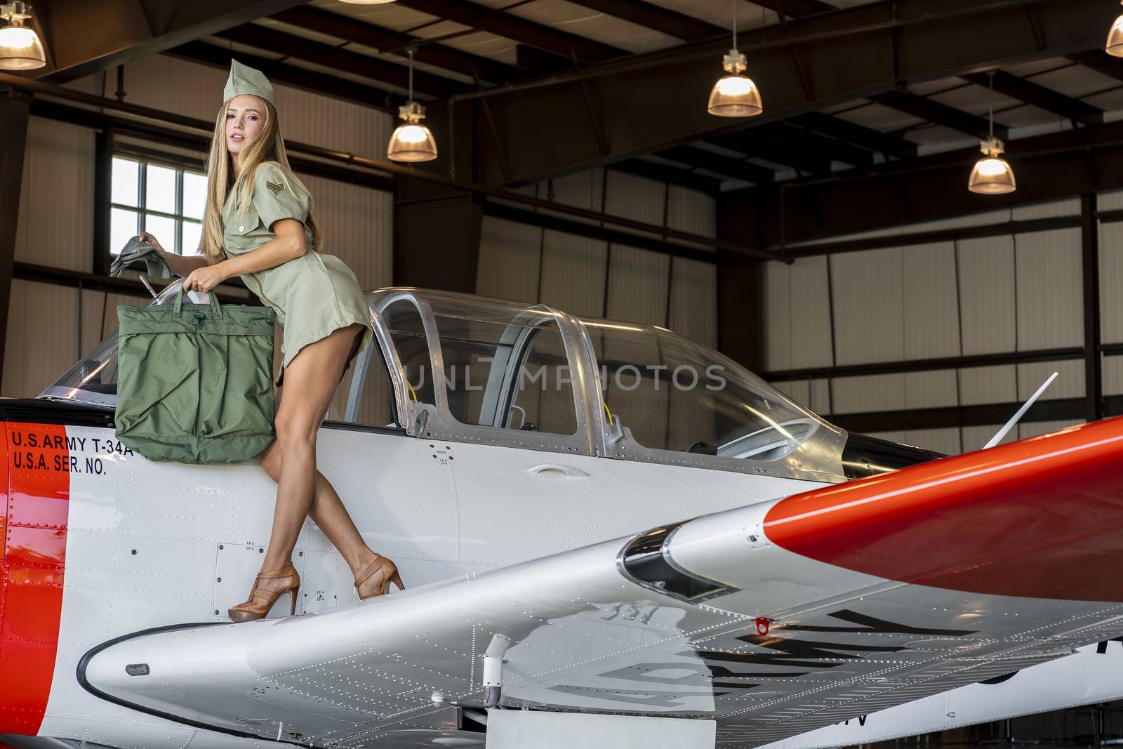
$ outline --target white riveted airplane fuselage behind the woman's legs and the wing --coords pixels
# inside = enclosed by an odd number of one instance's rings
[[[7,428],[13,476],[20,473],[34,485],[36,472],[43,472],[45,479],[67,486],[58,645],[38,736],[122,749],[248,746],[249,739],[99,700],[79,685],[75,668],[91,648],[124,634],[225,621],[226,610],[246,599],[259,568],[275,484],[256,464],[150,463],[122,450],[110,429]],[[35,454],[42,450],[16,450],[13,440],[27,447],[36,435],[34,441],[42,445],[44,435],[63,429],[69,446],[62,460],[39,462]],[[19,472],[16,451],[26,454]],[[367,542],[396,561],[407,586],[822,486],[331,426],[320,430],[318,462]],[[293,564],[302,581],[299,613],[356,600],[349,569],[311,522],[301,532]],[[282,614],[277,606],[272,615]],[[780,743],[784,749],[861,743],[1123,696],[1119,646],[1106,655],[1095,650],[1035,666],[1002,684],[961,687]],[[1039,688],[1041,679],[1057,688]]]

